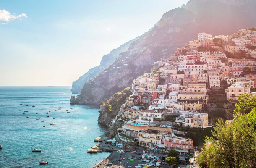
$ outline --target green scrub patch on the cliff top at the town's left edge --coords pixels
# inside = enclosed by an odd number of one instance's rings
[[[107,105],[110,105],[110,107],[107,107],[106,105],[106,108],[109,108],[109,110],[112,110],[112,111],[117,111],[119,110],[119,107],[125,103],[126,99],[128,96],[131,95],[131,92],[130,92],[130,87],[127,87],[125,89],[123,89],[121,92],[117,92],[115,93],[109,100],[107,100],[106,104]]]

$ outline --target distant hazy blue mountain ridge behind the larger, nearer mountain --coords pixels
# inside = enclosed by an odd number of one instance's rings
[[[130,44],[133,41],[134,39],[126,42],[123,45],[120,45],[118,48],[112,50],[109,54],[103,55],[99,66],[89,69],[87,73],[85,73],[78,80],[73,82],[72,89],[71,89],[72,93],[80,94],[85,82],[91,78],[94,78],[100,72],[104,71],[104,69],[106,69],[109,65],[111,65],[116,60],[116,58],[119,57],[119,54],[121,52],[127,51],[127,49],[129,48]]]

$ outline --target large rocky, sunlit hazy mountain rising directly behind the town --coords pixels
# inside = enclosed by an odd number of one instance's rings
[[[76,103],[109,99],[130,86],[134,78],[155,68],[154,61],[170,57],[177,47],[197,39],[198,33],[227,35],[256,26],[255,7],[254,0],[190,0],[181,8],[164,13],[160,21],[131,42],[128,50],[120,53],[104,73],[84,84]]]

